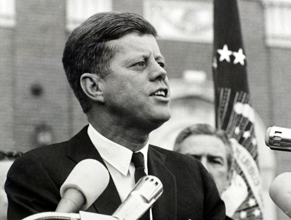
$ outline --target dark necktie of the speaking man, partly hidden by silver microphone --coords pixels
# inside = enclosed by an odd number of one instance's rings
[[[140,178],[146,176],[145,172],[145,160],[143,159],[143,154],[141,152],[132,153],[131,161],[134,164],[135,171],[134,171],[134,180],[135,183],[139,181]],[[139,220],[149,220],[149,210],[146,211]]]

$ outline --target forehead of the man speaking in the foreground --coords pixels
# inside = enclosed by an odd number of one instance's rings
[[[119,56],[125,58],[134,57],[137,54],[144,54],[162,57],[156,38],[152,34],[139,35],[138,33],[125,34],[121,38],[110,41],[117,49]],[[162,57],[163,58],[163,57]]]

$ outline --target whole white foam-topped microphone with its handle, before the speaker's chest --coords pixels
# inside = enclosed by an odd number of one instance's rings
[[[109,183],[109,172],[97,160],[79,162],[60,189],[61,201],[55,212],[79,212],[89,208]]]

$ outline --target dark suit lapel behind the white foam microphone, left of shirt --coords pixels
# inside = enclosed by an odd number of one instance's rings
[[[87,130],[88,126],[85,126],[78,134],[72,137],[70,140],[71,143],[67,150],[67,156],[75,163],[79,163],[84,159],[95,159],[106,167],[102,157],[91,142]],[[91,205],[86,211],[98,212],[104,215],[112,215],[112,213],[115,212],[115,210],[121,204],[121,200],[115,184],[111,175],[109,176],[110,179],[108,186],[99,196],[99,198],[93,203],[93,205]]]

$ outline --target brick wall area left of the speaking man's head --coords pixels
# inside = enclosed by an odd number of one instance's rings
[[[69,137],[70,89],[62,70],[65,1],[15,1],[16,26],[1,29],[1,149],[27,151],[35,126],[46,123]],[[2,65],[3,64],[3,65]],[[42,87],[34,96],[31,87]],[[2,104],[3,103],[3,104]]]

